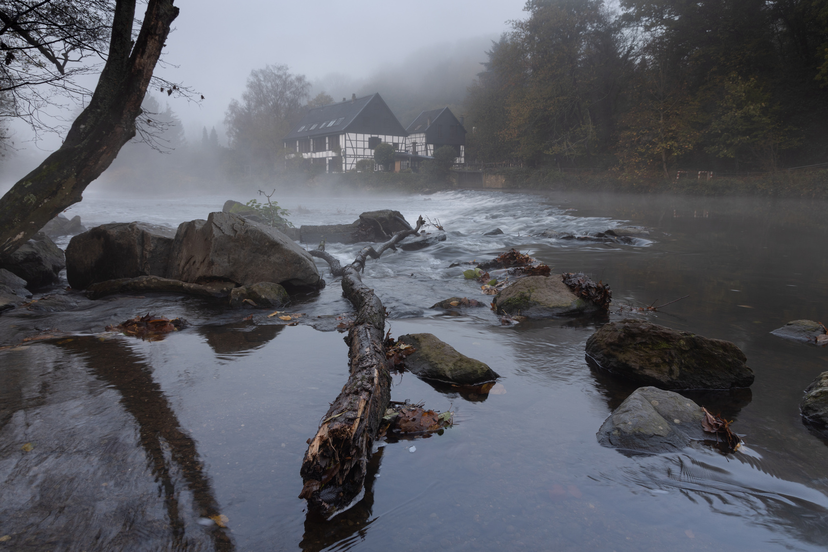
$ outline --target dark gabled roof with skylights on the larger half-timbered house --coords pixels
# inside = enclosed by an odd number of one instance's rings
[[[363,113],[369,104],[373,106],[368,109],[369,113],[365,113],[362,118],[359,118],[359,114]],[[379,116],[375,114],[371,118],[372,113],[377,113]],[[359,121],[357,121],[358,118]],[[354,122],[357,122],[354,127],[359,127],[359,131],[357,132],[393,134],[394,136],[404,136],[405,132],[400,122],[397,121],[397,118],[388,109],[388,105],[383,101],[383,98],[379,94],[371,94],[370,96],[363,96],[362,98],[330,103],[321,108],[310,109],[299,124],[283,139],[300,140],[302,138],[330,136],[331,134],[348,131],[349,126]],[[371,128],[365,129],[364,127],[366,126],[376,126],[377,128],[376,130]]]

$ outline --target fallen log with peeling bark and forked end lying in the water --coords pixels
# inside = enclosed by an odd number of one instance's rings
[[[345,297],[357,310],[354,325],[345,342],[349,345],[350,374],[339,396],[322,418],[302,462],[304,485],[300,498],[325,514],[348,506],[363,489],[373,440],[376,438],[388,402],[391,400],[391,376],[384,345],[385,308],[373,290],[363,284],[359,272],[368,257],[378,259],[387,249],[407,236],[416,235],[416,228],[401,230],[378,249],[364,247],[354,262],[341,266],[324,246],[310,251],[314,257],[330,265],[333,276],[342,276]]]

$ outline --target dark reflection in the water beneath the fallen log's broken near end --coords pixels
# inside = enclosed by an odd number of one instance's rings
[[[377,478],[379,464],[383,460],[385,447],[380,447],[371,455],[365,475],[365,487],[362,499],[348,510],[339,512],[330,520],[320,516],[315,508],[310,508],[305,517],[305,535],[299,543],[303,552],[319,552],[330,545],[337,545],[336,550],[350,550],[368,534],[368,526],[377,518],[373,513],[373,483]]]

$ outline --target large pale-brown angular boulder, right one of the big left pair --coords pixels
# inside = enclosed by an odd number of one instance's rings
[[[275,228],[241,215],[210,213],[181,223],[170,255],[168,277],[193,283],[261,281],[281,285],[321,284],[310,253]]]

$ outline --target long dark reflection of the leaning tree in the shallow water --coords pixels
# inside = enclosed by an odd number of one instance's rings
[[[176,489],[174,474],[180,471],[184,477],[198,516],[218,518],[220,512],[195,441],[181,430],[161,386],[152,379],[152,369],[118,339],[75,338],[59,341],[58,346],[84,358],[94,376],[121,395],[121,404],[137,421],[141,446],[152,473],[161,483],[173,549],[187,550],[190,543],[185,535],[181,490]],[[215,550],[233,550],[224,529],[214,525],[211,534]]]

